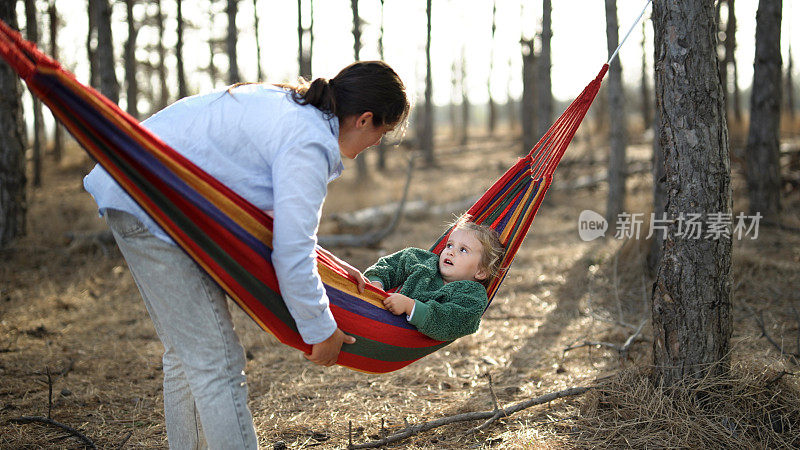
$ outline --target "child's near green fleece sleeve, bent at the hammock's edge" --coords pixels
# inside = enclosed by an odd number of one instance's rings
[[[486,289],[474,281],[454,281],[443,289],[444,301],[416,300],[409,323],[421,333],[440,341],[452,341],[478,331],[489,299]]]

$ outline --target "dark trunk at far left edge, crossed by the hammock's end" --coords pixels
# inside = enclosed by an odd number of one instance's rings
[[[0,20],[17,29],[16,2],[0,2]],[[22,86],[11,68],[0,64],[0,248],[25,234],[25,127]]]

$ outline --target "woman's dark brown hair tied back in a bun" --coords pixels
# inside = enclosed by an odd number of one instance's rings
[[[398,125],[411,109],[403,80],[383,61],[354,62],[330,80],[308,83],[301,78],[299,85],[278,86],[293,90],[297,103],[312,105],[340,121],[371,112],[375,126]]]

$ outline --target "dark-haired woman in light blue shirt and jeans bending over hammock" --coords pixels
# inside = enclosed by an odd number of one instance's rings
[[[274,211],[272,264],[306,357],[329,366],[343,343],[315,266],[327,183],[402,125],[403,82],[386,63],[356,62],[298,87],[234,85],[185,98],[143,125],[239,195]],[[84,180],[111,228],[164,344],[171,447],[257,448],[245,357],[224,292],[101,167]],[[358,270],[348,271],[363,289]],[[201,425],[202,424],[202,425]]]

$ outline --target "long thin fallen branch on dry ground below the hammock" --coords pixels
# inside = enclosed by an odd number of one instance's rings
[[[463,414],[456,414],[454,416],[442,417],[440,419],[432,420],[430,422],[411,425],[383,439],[379,439],[372,442],[365,442],[363,444],[350,445],[349,448],[358,449],[358,448],[381,447],[383,445],[401,441],[415,434],[432,430],[434,428],[438,428],[444,425],[449,425],[452,423],[481,420],[481,419],[492,419],[492,418],[494,418],[494,420],[497,420],[500,417],[510,416],[516,412],[522,411],[523,409],[530,408],[531,406],[540,405],[542,403],[548,403],[553,400],[558,400],[559,398],[581,395],[586,391],[588,391],[589,389],[590,389],[589,387],[571,387],[569,389],[564,389],[562,391],[551,392],[550,394],[545,394],[540,397],[525,400],[523,402],[516,403],[514,405],[508,406],[506,408],[497,411],[476,411]]]

